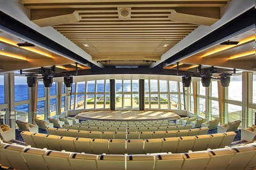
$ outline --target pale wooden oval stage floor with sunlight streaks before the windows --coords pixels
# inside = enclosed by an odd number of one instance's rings
[[[76,115],[81,120],[175,120],[179,115],[172,111],[120,110],[120,111],[83,111]]]

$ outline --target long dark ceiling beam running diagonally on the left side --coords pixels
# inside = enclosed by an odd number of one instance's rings
[[[52,50],[53,52],[57,52],[60,55],[67,56],[70,59],[76,60],[81,64],[92,64],[90,61],[84,59],[80,55],[68,50],[64,46],[56,43],[50,38],[47,38],[43,34],[31,29],[27,25],[15,20],[15,18],[10,17],[3,11],[0,11],[0,29],[3,29],[6,32],[10,32],[16,36],[19,36],[24,39],[31,39],[31,42],[36,42],[40,46],[44,46],[45,48]],[[98,67],[98,66],[95,66]]]

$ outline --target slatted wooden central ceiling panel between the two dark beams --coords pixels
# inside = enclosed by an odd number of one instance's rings
[[[228,0],[20,0],[31,21],[52,26],[106,66],[161,60],[198,25],[220,19]]]

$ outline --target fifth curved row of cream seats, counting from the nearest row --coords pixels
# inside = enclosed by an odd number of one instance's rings
[[[167,126],[175,126],[175,125],[182,125],[181,123],[168,123],[168,124],[132,124],[132,125],[125,125],[125,124],[84,124],[84,123],[76,123],[74,125],[81,125],[81,126],[89,126],[89,127],[167,127]]]

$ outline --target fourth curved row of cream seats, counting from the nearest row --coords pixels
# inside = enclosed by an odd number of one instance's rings
[[[82,131],[99,131],[99,132],[154,132],[154,131],[178,131],[192,129],[191,125],[177,125],[168,127],[88,127],[81,125],[63,125],[65,129],[75,129]]]

